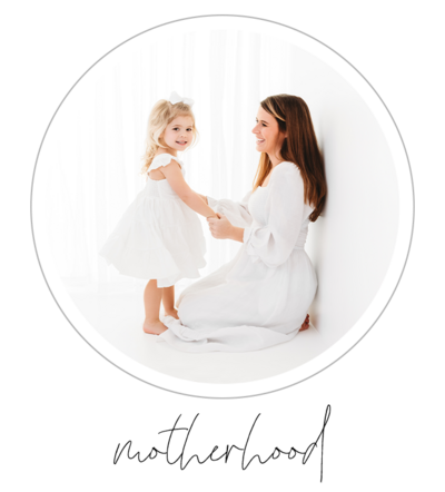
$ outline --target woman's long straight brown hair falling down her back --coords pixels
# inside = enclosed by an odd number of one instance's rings
[[[287,94],[269,96],[260,105],[265,111],[275,117],[279,130],[287,131],[280,155],[284,161],[294,163],[299,168],[305,185],[305,203],[314,207],[309,219],[315,222],[325,205],[327,187],[323,157],[309,108],[300,97]],[[269,156],[261,152],[254,179],[254,191],[263,185],[271,167]]]

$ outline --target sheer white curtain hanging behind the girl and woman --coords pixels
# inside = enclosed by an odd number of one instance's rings
[[[281,92],[300,96],[317,127],[314,109],[320,92],[312,67],[310,57],[287,42],[220,30],[158,43],[145,42],[142,35],[86,72],[43,142],[44,165],[50,166],[47,232],[67,285],[100,289],[140,284],[107,266],[98,250],[145,185],[141,156],[157,100],[172,90],[195,100],[200,138],[181,156],[190,187],[217,199],[240,200],[258,165],[251,128],[261,99]],[[240,244],[214,239],[200,218],[207,240],[204,276],[228,262]]]

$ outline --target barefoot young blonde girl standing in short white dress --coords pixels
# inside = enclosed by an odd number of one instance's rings
[[[177,157],[197,136],[192,104],[172,92],[152,108],[142,167],[146,187],[100,250],[121,274],[149,279],[144,291],[144,331],[156,335],[167,329],[159,319],[160,302],[166,315],[178,318],[175,283],[199,277],[198,268],[206,265],[206,243],[192,210],[216,217],[205,197],[185,181],[184,163]]]

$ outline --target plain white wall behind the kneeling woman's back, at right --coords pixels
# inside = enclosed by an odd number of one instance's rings
[[[313,65],[314,67],[314,65]],[[325,158],[328,196],[309,226],[307,252],[318,277],[309,311],[333,343],[362,316],[387,272],[398,226],[393,158],[376,119],[339,75],[320,67],[310,110]]]

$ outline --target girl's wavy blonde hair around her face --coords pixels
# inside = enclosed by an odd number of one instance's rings
[[[172,105],[170,101],[166,99],[160,99],[154,108],[151,109],[150,116],[148,118],[148,128],[147,128],[147,138],[146,138],[146,152],[142,157],[144,166],[141,169],[141,174],[147,174],[148,168],[152,159],[155,158],[156,152],[159,147],[168,148],[167,144],[162,139],[162,134],[167,128],[167,125],[172,121],[178,116],[189,116],[192,120],[192,134],[194,139],[191,145],[195,145],[198,138],[198,130],[195,126],[195,116],[191,111],[189,105],[185,102],[177,102]]]

